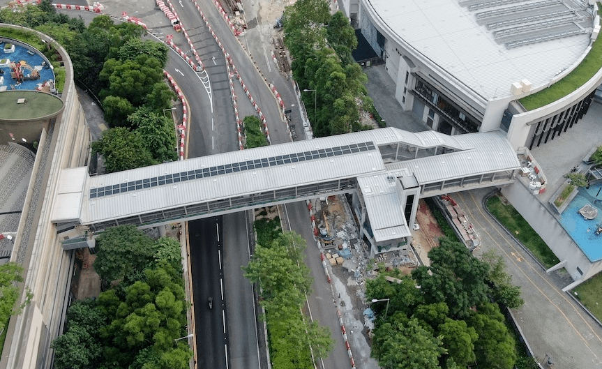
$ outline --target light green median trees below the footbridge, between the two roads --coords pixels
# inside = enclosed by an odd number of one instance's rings
[[[258,239],[269,233],[266,227]],[[333,340],[328,329],[303,317],[301,306],[309,293],[310,271],[303,262],[306,241],[294,232],[285,232],[271,239],[268,246],[257,244],[253,259],[243,267],[252,283],[259,283],[269,331],[270,359],[274,368],[313,368],[313,355],[324,357]]]

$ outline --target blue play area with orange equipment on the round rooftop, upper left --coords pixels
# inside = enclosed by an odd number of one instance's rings
[[[25,78],[22,82],[15,80],[11,76],[13,68],[10,68],[6,63],[0,64],[0,76],[4,79],[3,83],[0,84],[0,91],[13,89],[35,90],[38,89],[38,86],[44,84],[44,82],[49,80],[54,81],[52,68],[50,68],[50,65],[47,65],[45,59],[40,57],[40,55],[33,52],[33,50],[30,51],[27,47],[16,44],[13,44],[15,52],[4,52],[4,45],[5,43],[0,43],[0,60],[4,61],[4,59],[8,59],[10,63],[22,64],[20,72]],[[25,63],[22,63],[22,61],[25,61]],[[37,71],[40,77],[35,80],[28,80],[27,76],[35,74],[34,70]]]

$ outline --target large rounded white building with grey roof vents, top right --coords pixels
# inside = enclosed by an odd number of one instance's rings
[[[530,111],[518,101],[561,80],[587,55],[600,29],[594,1],[339,4],[385,61],[403,109],[442,133],[501,129],[515,149],[539,146],[570,129],[601,84],[599,72]]]

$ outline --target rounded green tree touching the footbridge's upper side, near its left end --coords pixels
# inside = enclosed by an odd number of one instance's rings
[[[156,164],[142,136],[126,127],[105,130],[103,137],[92,142],[92,150],[103,154],[107,172],[119,172]]]

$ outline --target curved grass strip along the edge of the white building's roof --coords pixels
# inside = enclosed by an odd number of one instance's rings
[[[602,7],[599,8],[598,13],[602,15]],[[559,100],[559,98],[569,95],[569,93],[572,93],[594,77],[602,66],[601,60],[602,41],[600,38],[597,38],[587,56],[583,58],[581,63],[571,73],[547,89],[521,98],[519,100],[520,103],[526,110],[535,110],[538,107],[548,105]]]

